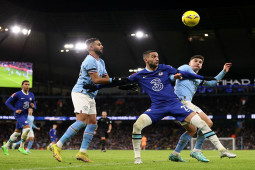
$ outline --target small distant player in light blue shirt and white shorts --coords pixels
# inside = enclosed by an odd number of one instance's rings
[[[34,128],[34,129],[37,129],[37,130],[40,130],[40,128],[37,127],[37,126],[34,124],[34,120],[35,120],[35,118],[34,118],[34,116],[33,116],[33,109],[32,109],[32,108],[29,108],[29,109],[28,109],[27,121],[28,121],[28,124],[29,124],[29,126],[30,126],[30,131],[29,131],[29,133],[28,133],[28,135],[27,135],[27,139],[26,139],[26,142],[28,142],[26,151],[27,151],[28,153],[31,153],[30,148],[32,147],[32,145],[33,145],[33,143],[34,143],[34,139],[35,139],[35,138],[34,138],[35,135],[34,135],[33,128]],[[12,149],[15,149],[16,146],[20,145],[20,143],[21,143],[21,140],[20,140],[19,142],[17,142],[17,143],[13,143],[13,144],[12,144]]]

